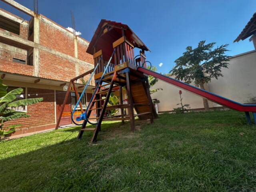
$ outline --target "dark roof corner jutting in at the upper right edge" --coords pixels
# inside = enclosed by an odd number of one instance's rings
[[[256,32],[256,13],[253,14],[250,21],[246,24],[242,32],[238,35],[238,37],[234,40],[234,42],[238,42],[240,40],[245,40]]]

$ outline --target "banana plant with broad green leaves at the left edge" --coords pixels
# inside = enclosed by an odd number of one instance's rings
[[[0,138],[2,136],[8,135],[15,131],[17,126],[21,126],[21,124],[15,124],[11,126],[4,127],[4,123],[10,120],[19,119],[19,118],[28,118],[30,115],[26,114],[26,112],[19,112],[11,107],[18,106],[26,106],[31,105],[43,100],[43,98],[32,98],[32,99],[22,99],[15,100],[16,95],[22,93],[22,88],[17,88],[10,92],[7,92],[8,86],[2,84],[3,80],[0,78]]]

